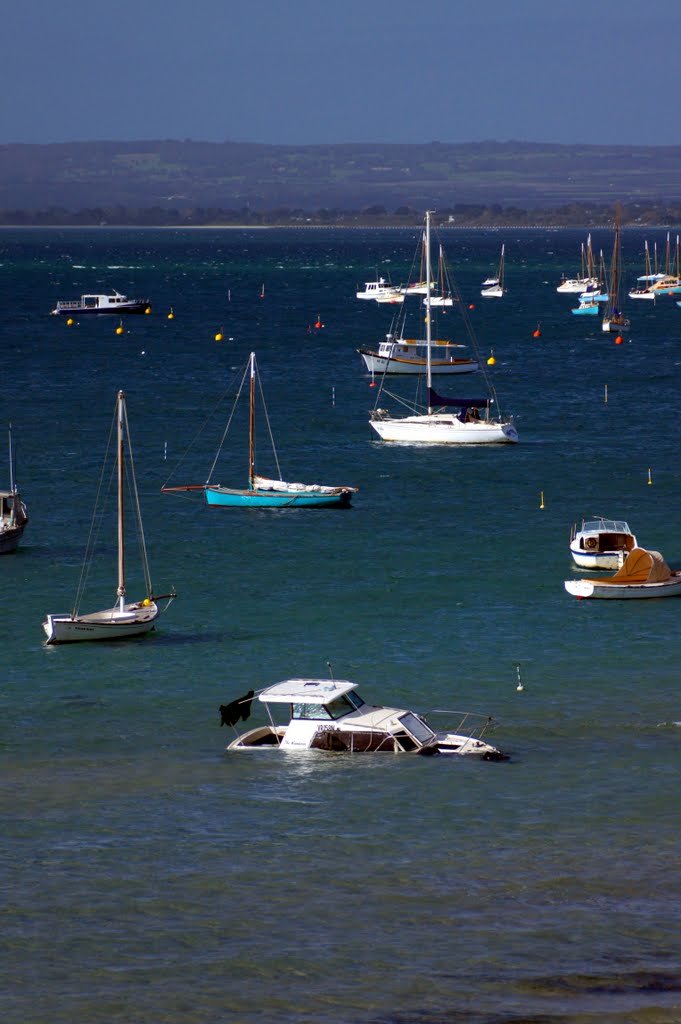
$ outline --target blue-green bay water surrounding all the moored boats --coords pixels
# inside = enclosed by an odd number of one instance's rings
[[[31,516],[0,561],[4,1022],[681,1019],[681,602],[563,589],[583,515],[681,567],[681,310],[630,302],[615,345],[555,292],[583,232],[445,232],[521,443],[386,445],[355,348],[390,311],[354,292],[402,280],[418,233],[0,233],[0,424]],[[485,302],[502,241],[509,293]],[[626,233],[629,285],[642,253]],[[47,315],[111,288],[153,303],[122,337]],[[200,428],[252,348],[285,475],[359,486],[351,510],[161,495],[206,478],[224,420]],[[179,597],[140,642],[47,649],[118,388],[153,578]],[[113,535],[107,554],[92,607]],[[511,760],[224,756],[221,702],[328,662],[369,700],[494,715]]]

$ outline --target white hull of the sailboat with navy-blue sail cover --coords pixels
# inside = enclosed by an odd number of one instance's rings
[[[512,423],[478,420],[462,423],[456,416],[408,416],[374,419],[371,426],[384,441],[417,444],[515,444],[518,432]]]

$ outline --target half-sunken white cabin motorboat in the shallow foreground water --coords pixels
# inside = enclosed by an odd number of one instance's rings
[[[286,679],[266,687],[257,694],[266,713],[266,724],[240,734],[237,727],[250,718],[255,697],[255,691],[249,690],[220,706],[220,725],[237,733],[227,751],[449,754],[484,761],[507,760],[497,746],[483,739],[493,724],[491,718],[434,712],[431,714],[460,716],[456,731],[436,732],[426,717],[416,712],[365,703],[354,683],[347,679]]]

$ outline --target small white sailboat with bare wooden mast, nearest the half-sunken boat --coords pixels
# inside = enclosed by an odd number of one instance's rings
[[[118,481],[117,501],[117,537],[118,537],[118,590],[117,601],[112,608],[103,611],[93,611],[89,614],[81,615],[79,606],[83,597],[87,577],[94,554],[95,524],[101,514],[100,495],[95,503],[92,528],[85,553],[83,569],[81,572],[80,585],[76,596],[75,607],[70,614],[47,615],[43,623],[43,629],[47,636],[48,644],[74,643],[80,640],[123,640],[128,637],[138,637],[148,633],[155,628],[156,622],[161,614],[158,602],[166,600],[167,604],[163,608],[165,611],[170,602],[174,599],[175,591],[170,594],[163,594],[159,597],[154,595],[152,579],[146,557],[146,547],[144,544],[144,532],[141,523],[141,513],[139,509],[139,497],[135,481],[134,464],[132,460],[132,449],[130,445],[130,431],[128,427],[128,417],[125,406],[125,395],[119,391],[116,398],[116,411],[114,423],[110,432],[110,444],[104,458],[104,466],[101,471],[100,487],[105,479],[105,471],[111,464],[111,440],[116,432],[116,465]],[[127,473],[126,473],[127,470]],[[145,597],[141,600],[129,602],[127,600],[126,589],[126,517],[125,517],[125,481],[126,475],[129,480],[130,497],[132,500],[134,519],[136,525],[137,541],[141,552],[141,570],[144,578]]]

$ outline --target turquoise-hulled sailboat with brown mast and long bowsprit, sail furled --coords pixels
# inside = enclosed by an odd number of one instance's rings
[[[208,480],[206,483],[189,483],[180,486],[164,485],[161,489],[164,494],[171,492],[202,490],[205,495],[206,504],[212,506],[229,508],[348,508],[352,495],[357,487],[348,486],[325,486],[320,483],[289,483],[281,478],[282,473],[279,464],[279,456],[273,444],[270,431],[270,441],[272,456],[276,465],[279,476],[269,478],[261,476],[255,471],[256,454],[256,360],[255,352],[251,352],[246,369],[241,379],[235,406],[227,421],[227,426],[222,434],[222,439],[213,460]],[[215,471],[222,445],[226,439],[229,425],[232,421],[237,403],[244,390],[246,380],[249,381],[249,430],[248,430],[248,486],[244,489],[225,487],[219,483],[211,482],[211,477]],[[259,378],[258,378],[259,383]],[[262,388],[260,396],[262,398]],[[264,398],[262,399],[264,403]],[[266,415],[265,419],[269,425]]]

